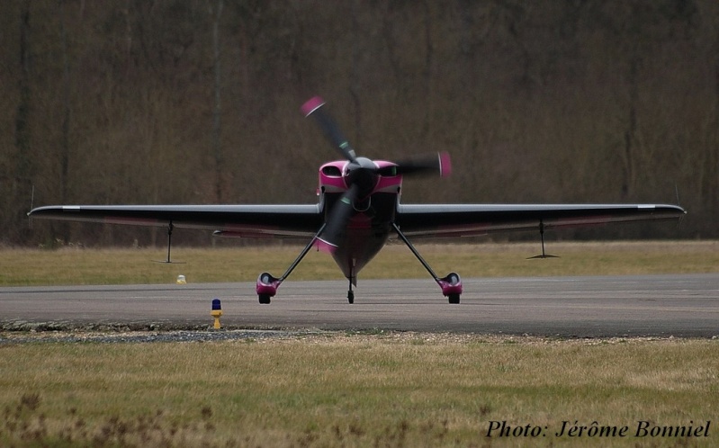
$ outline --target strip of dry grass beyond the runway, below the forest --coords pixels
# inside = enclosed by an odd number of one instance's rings
[[[719,271],[719,242],[550,243],[547,252],[560,258],[526,258],[538,244],[419,245],[436,272],[464,277],[587,275],[629,273],[707,273]],[[250,282],[259,273],[284,272],[301,246],[240,248],[175,247],[183,264],[154,263],[166,259],[164,249],[83,249],[53,251],[0,250],[0,285],[122,284],[174,282],[183,273],[192,282]],[[368,264],[362,278],[420,278],[422,266],[407,247],[390,245]],[[329,255],[310,252],[292,273],[293,280],[342,278]]]

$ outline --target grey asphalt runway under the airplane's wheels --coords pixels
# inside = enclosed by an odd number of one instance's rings
[[[272,304],[254,282],[0,288],[0,323],[212,323],[225,327],[400,330],[535,336],[719,336],[719,273],[463,279],[450,305],[428,279],[283,283]]]

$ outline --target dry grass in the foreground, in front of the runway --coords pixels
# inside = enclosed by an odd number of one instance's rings
[[[0,444],[714,446],[719,433],[634,431],[639,420],[716,417],[717,344],[427,334],[6,344]],[[546,435],[488,438],[492,420]],[[631,435],[557,436],[564,420]]]

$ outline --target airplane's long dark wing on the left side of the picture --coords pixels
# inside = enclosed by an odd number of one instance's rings
[[[313,237],[323,222],[318,204],[292,205],[54,205],[32,219],[150,227],[202,228],[229,237]]]

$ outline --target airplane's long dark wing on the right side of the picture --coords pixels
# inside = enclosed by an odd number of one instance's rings
[[[472,237],[490,232],[679,219],[661,204],[400,204],[396,224],[408,237]]]

